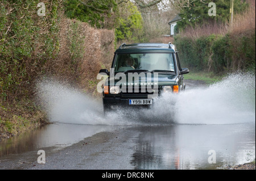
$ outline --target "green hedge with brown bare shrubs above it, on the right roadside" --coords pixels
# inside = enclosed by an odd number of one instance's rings
[[[195,71],[213,71],[217,75],[237,70],[255,71],[255,1],[234,1],[233,24],[230,24],[229,12],[226,11],[229,3],[225,2],[216,2],[216,16],[208,16],[208,19],[201,16],[194,23],[187,22],[187,19],[178,22],[181,32],[175,36],[175,44],[180,50],[183,66]],[[195,11],[195,15],[207,7],[202,7],[199,12],[196,10],[199,11],[197,6],[191,7],[183,10],[183,14]]]

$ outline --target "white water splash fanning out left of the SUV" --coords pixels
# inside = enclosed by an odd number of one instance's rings
[[[37,95],[51,122],[105,124],[102,103],[65,83],[44,79],[37,85]]]

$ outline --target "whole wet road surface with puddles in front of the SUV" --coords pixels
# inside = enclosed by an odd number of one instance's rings
[[[188,89],[195,86],[188,83]],[[255,119],[255,114],[249,119]],[[42,151],[45,163],[39,163]],[[0,142],[0,169],[222,169],[254,159],[254,121],[56,123]]]

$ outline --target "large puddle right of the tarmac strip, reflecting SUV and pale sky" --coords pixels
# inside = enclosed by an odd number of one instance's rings
[[[255,159],[255,124],[141,127],[135,169],[218,169]],[[216,163],[208,162],[216,153]]]

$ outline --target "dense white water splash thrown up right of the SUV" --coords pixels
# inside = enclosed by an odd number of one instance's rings
[[[232,124],[255,121],[255,74],[230,74],[207,89],[188,90],[176,104],[180,124]]]

